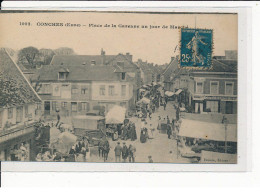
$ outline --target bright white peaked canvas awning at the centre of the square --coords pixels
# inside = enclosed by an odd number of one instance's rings
[[[106,115],[106,124],[121,124],[125,120],[126,108],[115,105]]]

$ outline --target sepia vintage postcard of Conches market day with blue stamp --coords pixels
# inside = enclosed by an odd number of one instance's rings
[[[237,13],[3,11],[0,32],[0,161],[237,164]]]

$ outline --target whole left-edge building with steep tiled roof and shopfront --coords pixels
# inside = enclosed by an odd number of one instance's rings
[[[35,159],[41,100],[9,54],[0,51],[0,161]]]

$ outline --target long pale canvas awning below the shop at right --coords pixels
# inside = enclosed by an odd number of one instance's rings
[[[179,136],[213,141],[225,141],[225,126],[222,123],[183,119]],[[236,124],[227,125],[227,141],[237,142]]]

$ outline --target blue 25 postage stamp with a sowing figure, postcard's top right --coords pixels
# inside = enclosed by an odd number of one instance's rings
[[[181,67],[210,67],[212,30],[181,29]]]

